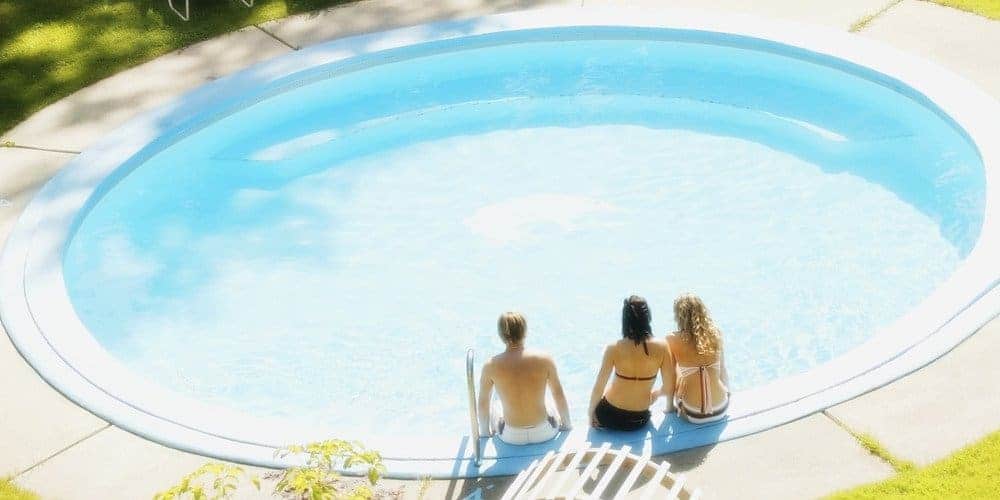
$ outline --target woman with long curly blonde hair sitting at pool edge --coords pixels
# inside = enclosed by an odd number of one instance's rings
[[[666,382],[660,394],[667,405],[691,423],[716,422],[729,408],[729,375],[722,354],[722,332],[708,308],[696,295],[681,295],[674,301],[677,331],[667,336],[676,382]],[[653,397],[660,394],[653,393]]]

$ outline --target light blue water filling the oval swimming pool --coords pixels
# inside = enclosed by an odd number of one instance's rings
[[[107,186],[66,285],[137,376],[345,437],[465,433],[465,348],[508,309],[582,425],[632,293],[657,335],[703,296],[743,390],[858,346],[978,238],[975,149],[892,87],[654,36],[358,65]]]

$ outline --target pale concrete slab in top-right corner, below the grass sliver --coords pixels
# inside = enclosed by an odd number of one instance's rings
[[[1000,98],[1000,21],[905,0],[872,21],[861,35],[926,57]]]

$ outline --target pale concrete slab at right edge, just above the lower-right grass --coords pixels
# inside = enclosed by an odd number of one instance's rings
[[[944,458],[1000,428],[1000,320],[913,374],[827,410],[918,464]]]

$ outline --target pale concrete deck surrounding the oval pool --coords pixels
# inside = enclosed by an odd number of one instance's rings
[[[470,17],[498,10],[580,2],[483,2],[453,0],[434,5],[366,1],[250,27],[169,54],[81,90],[37,113],[4,135],[17,147],[0,149],[0,238],[5,238],[31,194],[72,155],[129,117],[197,85],[275,55],[326,39],[446,17]],[[884,1],[822,3],[756,2],[752,10],[736,0],[712,2],[593,2],[670,5],[754,13],[846,29],[879,11]],[[894,3],[894,2],[893,2]],[[585,2],[586,5],[591,2]],[[584,5],[584,7],[586,7]],[[928,33],[935,36],[929,37]],[[894,5],[861,32],[949,67],[1000,98],[1000,55],[977,52],[1000,43],[1000,23],[933,4],[907,0]],[[992,59],[991,59],[992,58]],[[1000,349],[994,321],[937,362],[896,383],[791,424],[713,447],[666,457],[686,471],[691,484],[709,497],[822,495],[888,477],[891,468],[869,456],[836,420],[869,432],[901,458],[926,463],[1000,427],[995,398],[976,404],[940,405],[955,383],[989,395],[987,384],[1000,368],[988,355]],[[109,426],[49,388],[0,341],[0,474],[45,498],[142,498],[176,481],[205,461],[134,437]],[[918,418],[914,418],[919,415]],[[928,432],[933,429],[934,433]],[[802,446],[808,443],[806,449]],[[437,481],[428,498],[486,497],[505,480]],[[398,483],[393,483],[398,484]],[[418,487],[410,483],[409,492]]]

